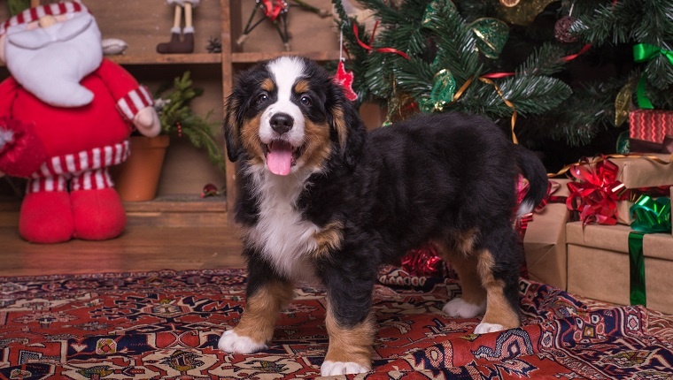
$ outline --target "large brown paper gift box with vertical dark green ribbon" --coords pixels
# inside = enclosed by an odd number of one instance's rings
[[[628,305],[628,225],[566,224],[568,292]],[[673,314],[673,235],[648,233],[643,239],[647,308]]]

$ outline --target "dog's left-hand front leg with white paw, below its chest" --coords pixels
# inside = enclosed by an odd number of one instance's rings
[[[274,337],[276,318],[292,300],[290,281],[275,276],[265,262],[248,263],[244,314],[238,325],[225,331],[218,347],[226,353],[255,353],[267,348]]]

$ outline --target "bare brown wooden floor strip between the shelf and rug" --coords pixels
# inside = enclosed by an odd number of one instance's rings
[[[0,276],[243,267],[236,232],[222,227],[128,225],[120,238],[31,244],[0,227]]]

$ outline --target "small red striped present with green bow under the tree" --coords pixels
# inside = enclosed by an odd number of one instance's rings
[[[667,134],[673,134],[673,111],[633,110],[630,112],[630,140],[661,143]]]

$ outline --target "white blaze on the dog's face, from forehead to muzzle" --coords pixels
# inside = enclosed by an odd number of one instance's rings
[[[269,121],[275,114],[284,113],[290,115],[294,124],[288,133],[283,134],[282,140],[289,141],[293,147],[298,148],[304,143],[304,115],[298,105],[292,103],[291,97],[297,80],[304,75],[304,63],[295,57],[281,57],[271,61],[267,70],[274,80],[277,98],[262,113],[259,139],[269,144],[281,137],[271,128]]]

